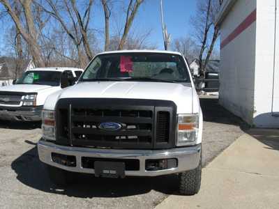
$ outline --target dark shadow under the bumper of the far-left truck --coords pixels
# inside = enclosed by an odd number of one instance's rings
[[[27,122],[27,121],[1,121],[0,128],[15,129],[15,130],[32,130],[40,128],[41,122]]]

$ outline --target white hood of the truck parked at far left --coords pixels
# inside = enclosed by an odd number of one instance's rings
[[[10,86],[0,87],[0,91],[15,91],[15,92],[38,92],[45,90],[46,88],[52,88],[52,86],[35,85],[35,84],[15,84]]]

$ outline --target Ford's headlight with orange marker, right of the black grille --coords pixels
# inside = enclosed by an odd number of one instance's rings
[[[199,132],[199,115],[179,114],[177,122],[176,146],[195,145]]]

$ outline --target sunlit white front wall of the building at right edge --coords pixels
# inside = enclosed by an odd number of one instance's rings
[[[279,13],[277,12],[277,29],[275,31],[276,1],[279,3],[279,0],[257,0],[253,121],[257,127],[279,127]]]

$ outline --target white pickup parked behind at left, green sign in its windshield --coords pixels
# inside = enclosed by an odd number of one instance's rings
[[[13,85],[0,87],[0,120],[40,121],[48,95],[75,84],[78,68],[35,68],[24,72]]]

